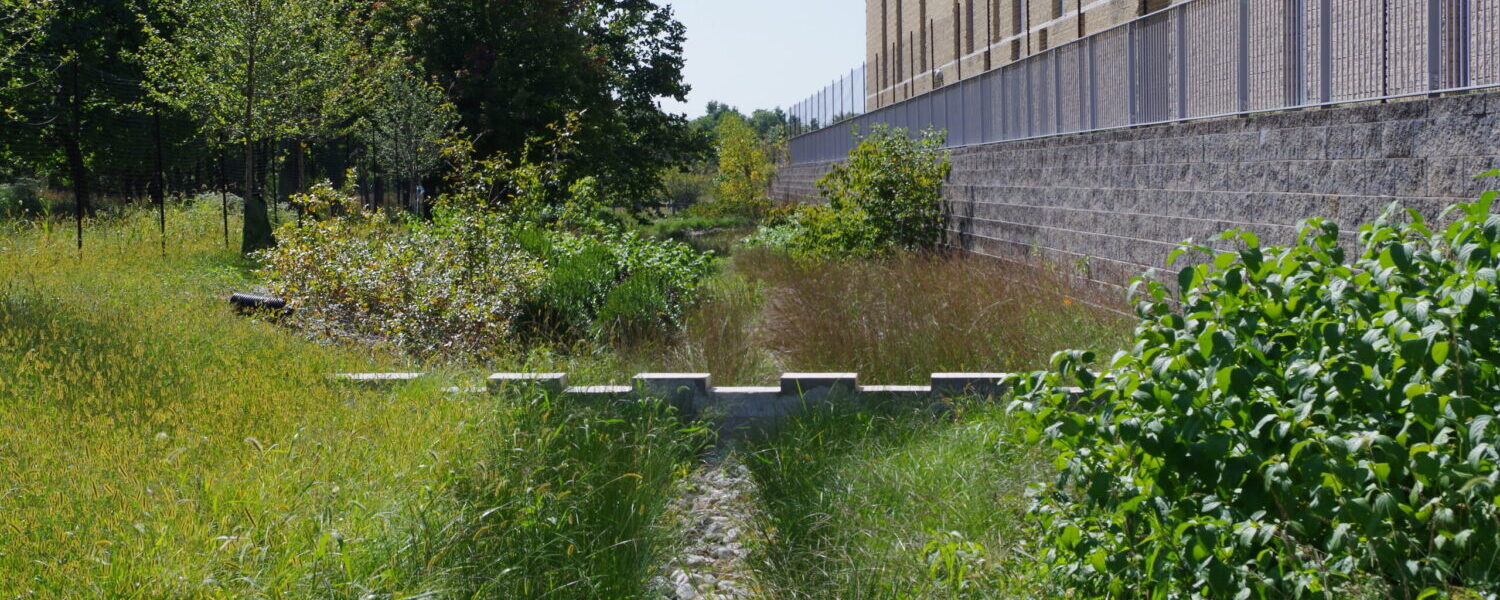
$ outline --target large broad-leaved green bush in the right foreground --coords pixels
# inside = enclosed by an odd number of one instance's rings
[[[1017,381],[1028,442],[1060,454],[1032,513],[1083,597],[1500,591],[1500,218],[1380,219],[1209,255],[1180,304],[1142,280],[1132,350]],[[1446,216],[1444,216],[1446,219]],[[1060,390],[1083,387],[1082,402]]]

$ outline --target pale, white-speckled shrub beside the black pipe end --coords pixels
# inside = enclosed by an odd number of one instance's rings
[[[482,354],[512,336],[546,270],[507,236],[456,232],[360,218],[288,225],[260,254],[261,274],[298,312],[346,333],[418,356]]]

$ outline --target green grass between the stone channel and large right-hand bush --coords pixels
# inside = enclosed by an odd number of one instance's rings
[[[1024,489],[1046,452],[1004,440],[1004,410],[824,408],[746,448],[776,598],[1048,597]]]

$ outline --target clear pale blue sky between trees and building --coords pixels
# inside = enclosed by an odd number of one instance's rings
[[[788,106],[864,62],[866,0],[664,0],[687,26],[687,104],[669,112],[704,114],[708,100],[741,111]]]

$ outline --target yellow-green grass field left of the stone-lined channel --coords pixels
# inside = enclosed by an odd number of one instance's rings
[[[232,315],[213,208],[0,232],[0,597],[645,596],[669,410],[333,384],[420,366]]]

